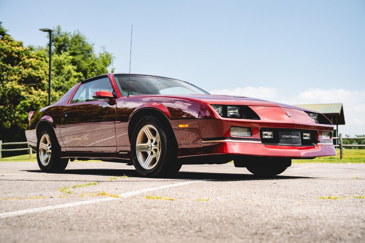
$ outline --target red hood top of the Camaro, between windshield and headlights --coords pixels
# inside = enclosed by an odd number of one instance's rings
[[[181,95],[177,95],[180,96]],[[296,107],[293,105],[287,105],[267,100],[255,99],[242,96],[228,96],[228,95],[184,95],[183,97],[199,99],[209,104],[221,104],[221,105],[249,105],[249,106],[269,106],[269,107],[283,107],[290,109],[297,109],[301,111],[315,112],[310,109]]]

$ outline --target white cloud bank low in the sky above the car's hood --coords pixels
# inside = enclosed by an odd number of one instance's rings
[[[211,94],[247,96],[290,105],[342,103],[346,125],[339,126],[339,131],[350,135],[365,134],[365,90],[307,89],[279,96],[278,90],[273,87],[246,86],[212,90]]]

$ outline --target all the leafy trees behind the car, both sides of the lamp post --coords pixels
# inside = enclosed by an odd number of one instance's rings
[[[70,33],[57,26],[52,36],[52,101],[78,82],[108,73],[114,57],[105,48],[96,54],[93,44],[80,31]],[[0,22],[0,140],[3,142],[24,141],[28,112],[48,103],[48,50],[49,46],[24,46]]]

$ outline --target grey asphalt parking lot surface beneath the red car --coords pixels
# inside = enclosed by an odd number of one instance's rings
[[[364,179],[365,164],[263,179],[233,163],[142,178],[121,163],[1,162],[0,242],[365,242]]]

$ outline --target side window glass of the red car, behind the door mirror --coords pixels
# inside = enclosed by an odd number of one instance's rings
[[[75,95],[72,97],[71,103],[97,100],[94,99],[92,95],[99,90],[108,90],[114,93],[114,89],[108,77],[81,84],[76,90]]]

